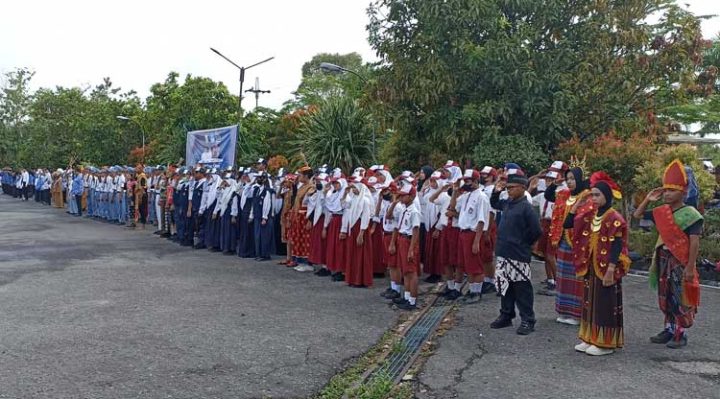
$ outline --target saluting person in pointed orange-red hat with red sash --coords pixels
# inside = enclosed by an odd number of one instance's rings
[[[676,159],[665,169],[663,186],[651,191],[633,213],[637,219],[651,218],[659,233],[650,266],[650,286],[657,290],[665,329],[650,341],[671,349],[687,345],[685,330],[692,327],[700,304],[696,262],[703,217],[684,203],[690,185],[684,165]],[[660,198],[665,205],[646,213],[647,205]]]

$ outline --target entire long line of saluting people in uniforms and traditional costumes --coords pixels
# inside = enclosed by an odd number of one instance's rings
[[[628,223],[613,208],[622,194],[608,174],[590,174],[576,158],[535,176],[514,163],[463,171],[453,161],[395,177],[383,165],[270,174],[259,159],[223,170],[5,168],[1,180],[15,198],[131,228],[154,226],[155,234],[197,250],[259,262],[281,256],[286,267],[353,287],[370,287],[388,273],[382,296],[403,310],[422,306],[423,274],[442,284],[438,294],[451,301],[497,295],[500,313],[490,327],[512,326],[517,309],[520,335],[535,329],[535,256],[547,275],[538,293],[555,296],[557,322],[579,328],[575,349],[599,356],[624,345]],[[674,161],[663,186],[633,215],[652,219],[659,232],[650,280],[665,325],[651,341],[670,348],[687,345],[699,304],[695,263],[703,218],[685,204],[690,180]],[[646,211],[660,199],[664,205]]]

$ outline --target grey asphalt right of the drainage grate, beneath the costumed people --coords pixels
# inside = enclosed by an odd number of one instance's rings
[[[533,273],[544,278],[541,265]],[[462,307],[439,339],[419,375],[418,397],[720,398],[720,290],[702,291],[689,345],[672,350],[649,342],[663,320],[647,279],[628,276],[623,284],[624,350],[601,358],[575,352],[577,328],[554,321],[554,298],[547,296],[535,296],[535,333],[491,330],[500,304],[486,296]]]

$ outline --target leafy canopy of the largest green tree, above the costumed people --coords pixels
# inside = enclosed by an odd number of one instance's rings
[[[487,135],[552,149],[573,133],[652,133],[658,107],[687,101],[673,84],[694,82],[703,46],[672,0],[377,0],[368,12],[378,114],[454,158]],[[425,155],[407,152],[395,160]]]

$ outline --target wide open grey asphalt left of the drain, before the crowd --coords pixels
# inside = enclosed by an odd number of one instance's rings
[[[394,324],[379,290],[0,195],[0,398],[307,397]]]

